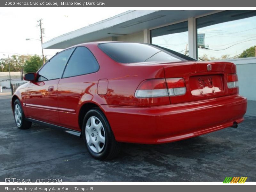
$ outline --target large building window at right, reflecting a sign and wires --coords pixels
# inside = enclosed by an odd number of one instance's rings
[[[256,56],[256,11],[224,11],[196,19],[198,60]]]

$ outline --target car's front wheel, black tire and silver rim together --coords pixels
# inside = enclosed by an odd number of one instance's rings
[[[31,122],[26,121],[24,112],[22,110],[20,100],[16,99],[13,103],[13,112],[16,126],[19,129],[28,129],[31,127]]]

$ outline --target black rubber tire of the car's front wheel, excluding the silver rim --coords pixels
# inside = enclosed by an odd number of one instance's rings
[[[19,105],[19,108],[17,109],[20,114],[21,114],[21,118],[19,118],[20,120],[17,121],[16,117],[15,117],[15,108],[16,108],[16,105]],[[18,106],[17,106],[18,107]],[[19,110],[20,109],[20,110]],[[29,122],[29,121],[26,121],[26,117],[24,115],[24,112],[23,112],[23,109],[21,107],[21,104],[20,104],[20,100],[16,99],[13,103],[13,114],[14,114],[14,121],[16,123],[16,126],[19,128],[19,129],[29,129],[31,127],[31,124],[32,122]]]

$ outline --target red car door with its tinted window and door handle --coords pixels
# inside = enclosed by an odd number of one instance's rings
[[[38,71],[36,82],[28,84],[25,104],[28,117],[59,124],[58,83],[74,49],[62,51],[53,56]]]

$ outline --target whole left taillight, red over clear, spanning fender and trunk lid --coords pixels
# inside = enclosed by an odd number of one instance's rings
[[[148,79],[143,81],[135,92],[137,98],[178,96],[186,93],[183,78]]]

